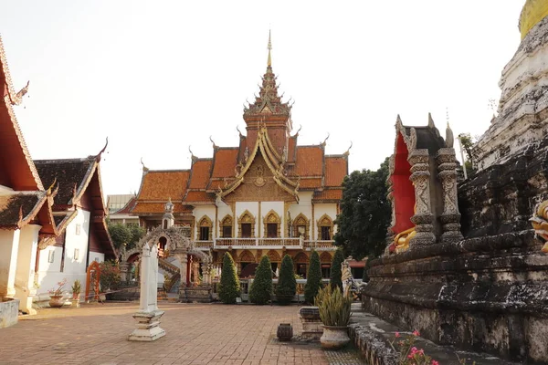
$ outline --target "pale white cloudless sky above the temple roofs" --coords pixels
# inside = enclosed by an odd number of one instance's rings
[[[243,103],[267,64],[300,144],[353,141],[350,170],[393,152],[395,119],[480,135],[501,70],[520,43],[524,0],[11,1],[0,35],[16,116],[34,159],[96,154],[106,194],[139,190],[150,169],[187,169],[189,145],[237,146]],[[336,5],[335,5],[336,4]]]

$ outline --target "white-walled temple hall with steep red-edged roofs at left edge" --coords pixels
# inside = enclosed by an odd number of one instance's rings
[[[28,84],[14,91],[1,39],[0,83],[0,327],[5,327],[16,322],[18,310],[34,313],[33,301],[47,299],[58,281],[67,279],[65,290],[75,279],[85,283],[90,261],[116,253],[105,225],[102,151],[85,159],[33,161],[13,108]]]

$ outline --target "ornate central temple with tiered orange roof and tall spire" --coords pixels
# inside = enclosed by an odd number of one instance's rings
[[[298,144],[291,105],[278,94],[270,49],[269,40],[267,70],[258,97],[244,109],[246,133],[240,132],[237,145],[213,143],[213,157],[193,154],[188,170],[143,165],[131,214],[151,229],[162,224],[164,204],[173,202],[175,225],[191,227],[195,247],[209,252],[216,265],[230,252],[242,277],[254,275],[262,255],[269,255],[276,271],[285,254],[305,276],[312,248],[328,276],[349,152],[328,155],[326,141]]]

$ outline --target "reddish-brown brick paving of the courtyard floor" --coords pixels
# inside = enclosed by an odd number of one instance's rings
[[[328,364],[319,345],[273,343],[279,323],[300,333],[299,307],[160,304],[166,335],[131,342],[135,303],[44,308],[0,329],[7,364]]]

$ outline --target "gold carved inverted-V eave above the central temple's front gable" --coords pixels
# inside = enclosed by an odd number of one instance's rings
[[[236,179],[232,183],[229,183],[225,189],[220,190],[217,193],[217,196],[223,199],[229,193],[234,192],[237,187],[244,182],[244,176],[251,167],[251,164],[255,161],[258,151],[261,152],[270,172],[272,172],[274,182],[277,183],[282,190],[290,193],[290,195],[299,202],[299,183],[292,182],[281,172],[283,170],[283,163],[276,159],[275,151],[271,148],[271,144],[269,145],[268,131],[264,127],[259,130],[255,147],[253,148],[253,151],[251,151],[248,161],[237,174]]]

